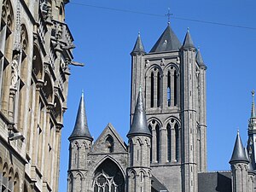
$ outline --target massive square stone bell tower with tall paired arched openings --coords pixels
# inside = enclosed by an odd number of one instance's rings
[[[131,52],[131,119],[141,84],[152,173],[170,191],[196,192],[207,171],[206,69],[189,30],[181,44],[170,23],[149,53],[140,34]]]

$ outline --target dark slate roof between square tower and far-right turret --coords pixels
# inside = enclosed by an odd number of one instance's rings
[[[232,192],[231,172],[198,173],[198,192]]]

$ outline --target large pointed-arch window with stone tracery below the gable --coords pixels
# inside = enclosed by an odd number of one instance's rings
[[[125,191],[125,178],[113,160],[104,160],[96,168],[94,177],[94,192],[123,192]]]

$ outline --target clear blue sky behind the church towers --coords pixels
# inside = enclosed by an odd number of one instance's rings
[[[75,3],[108,7],[100,9]],[[68,140],[73,131],[81,91],[91,135],[96,138],[111,122],[125,142],[129,130],[131,49],[141,32],[149,51],[167,25],[167,9],[173,17],[206,20],[242,27],[212,25],[171,19],[172,30],[183,42],[187,27],[207,64],[208,170],[229,170],[229,160],[239,127],[247,142],[250,91],[256,89],[255,0],[71,0],[66,21],[75,38],[67,112],[61,140],[60,192],[67,191]],[[126,9],[151,15],[117,11]],[[157,16],[162,15],[162,16]]]

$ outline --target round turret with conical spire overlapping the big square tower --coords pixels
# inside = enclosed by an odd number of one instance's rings
[[[141,90],[133,115],[129,138],[129,163],[127,167],[127,192],[151,192],[150,141],[147,119],[143,107]]]

